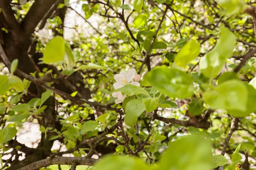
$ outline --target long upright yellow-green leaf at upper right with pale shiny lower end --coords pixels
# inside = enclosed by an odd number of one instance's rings
[[[215,78],[222,70],[226,60],[233,55],[236,35],[222,26],[221,35],[212,51],[200,59],[199,69],[210,78]]]

